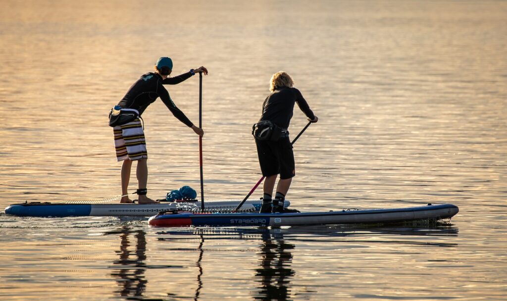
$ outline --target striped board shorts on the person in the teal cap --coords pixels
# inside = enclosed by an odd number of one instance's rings
[[[118,161],[148,159],[144,131],[139,119],[116,126],[113,128],[113,132]]]

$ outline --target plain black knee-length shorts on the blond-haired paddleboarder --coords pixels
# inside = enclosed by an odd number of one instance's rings
[[[294,152],[288,137],[278,141],[256,140],[256,144],[263,176],[280,174],[280,179],[290,179],[296,175]]]

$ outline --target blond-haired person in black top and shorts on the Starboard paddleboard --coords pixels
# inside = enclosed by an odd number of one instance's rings
[[[294,152],[288,137],[288,126],[294,114],[294,104],[304,112],[309,122],[317,122],[318,117],[313,114],[301,92],[293,87],[294,82],[285,71],[279,71],[271,77],[271,94],[262,104],[262,116],[257,125],[269,121],[274,125],[271,138],[256,137],[257,154],[264,180],[264,195],[260,213],[285,212],[283,203],[292,178],[296,175]],[[262,131],[259,136],[262,136]],[[272,199],[276,177],[280,180],[276,186],[276,195]]]

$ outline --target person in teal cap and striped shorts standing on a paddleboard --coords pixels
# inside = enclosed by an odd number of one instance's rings
[[[171,111],[172,115],[180,122],[191,128],[197,135],[204,135],[204,131],[196,127],[185,116],[183,111],[176,107],[169,92],[163,85],[179,84],[198,72],[208,74],[208,70],[201,66],[199,68],[190,69],[190,71],[180,74],[177,77],[169,77],[172,72],[172,60],[169,57],[161,57],[155,65],[154,72],[143,74],[128,90],[127,94],[118,103],[121,108],[135,109],[142,112],[160,97],[162,102]],[[130,170],[132,162],[137,161],[136,177],[138,181],[137,195],[139,204],[158,203],[147,197],[148,184],[148,152],[146,149],[146,140],[144,138],[143,126],[139,118],[127,124],[116,126],[113,128],[115,135],[115,147],[117,160],[123,161],[121,169],[121,186],[122,199],[121,203],[132,203],[128,197],[128,184],[130,180]]]

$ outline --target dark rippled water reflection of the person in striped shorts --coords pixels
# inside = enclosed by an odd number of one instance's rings
[[[132,234],[136,239],[135,251],[129,250],[133,245],[130,241]],[[119,259],[115,260],[111,276],[116,278],[120,288],[116,291],[122,297],[142,297],[146,290],[148,280],[144,278],[146,271],[146,233],[142,230],[130,231],[128,228],[121,231],[120,250],[116,251]],[[132,256],[135,254],[135,256]]]

